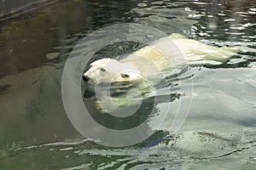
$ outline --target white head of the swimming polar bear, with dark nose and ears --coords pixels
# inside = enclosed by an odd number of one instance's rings
[[[143,78],[138,69],[130,63],[121,63],[116,59],[99,59],[90,64],[83,75],[87,84],[131,82]]]

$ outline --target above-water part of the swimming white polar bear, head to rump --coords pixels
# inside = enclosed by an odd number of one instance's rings
[[[166,46],[163,49],[167,50],[171,45],[174,48],[172,54],[162,53],[163,46]],[[125,59],[108,58],[94,61],[84,73],[83,80],[87,84],[131,82],[150,77],[155,72],[173,71],[173,74],[177,74],[187,64],[221,65],[239,51],[236,48],[212,47],[180,34],[172,34],[129,54]],[[160,77],[160,74],[155,77]]]

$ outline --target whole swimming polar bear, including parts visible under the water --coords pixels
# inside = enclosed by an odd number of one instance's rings
[[[91,63],[83,75],[84,97],[96,94],[98,111],[119,115],[119,109],[140,104],[142,99],[154,96],[158,87],[168,87],[172,77],[187,71],[189,65],[221,65],[236,52],[239,50],[212,47],[172,34],[125,59],[98,59]],[[132,89],[137,89],[136,93]]]

